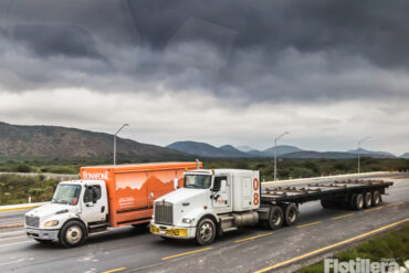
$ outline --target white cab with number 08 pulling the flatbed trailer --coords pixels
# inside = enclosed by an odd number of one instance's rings
[[[259,171],[186,171],[183,188],[155,201],[150,231],[161,238],[209,244],[217,233],[258,223],[259,208]]]

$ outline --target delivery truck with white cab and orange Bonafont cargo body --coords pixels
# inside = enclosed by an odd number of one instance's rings
[[[198,168],[199,161],[83,167],[80,180],[60,182],[50,203],[25,213],[27,235],[72,248],[109,227],[147,225],[154,200]]]

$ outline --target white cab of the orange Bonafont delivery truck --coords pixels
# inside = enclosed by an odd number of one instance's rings
[[[81,244],[91,230],[106,229],[108,213],[104,180],[62,181],[51,203],[25,213],[27,235],[64,246]]]

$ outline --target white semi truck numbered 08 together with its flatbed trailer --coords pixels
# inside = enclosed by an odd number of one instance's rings
[[[155,201],[150,232],[162,239],[195,239],[200,245],[242,227],[261,224],[275,230],[293,225],[298,206],[308,201],[354,210],[378,206],[392,185],[349,180],[262,189],[259,171],[239,169],[189,170],[183,182],[182,188]]]

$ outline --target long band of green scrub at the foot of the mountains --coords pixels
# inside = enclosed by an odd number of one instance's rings
[[[262,178],[271,180],[274,176],[273,159],[202,159],[204,168],[240,168],[260,170]],[[118,164],[132,162],[129,160]],[[0,171],[78,174],[81,166],[109,164],[106,161],[3,161]],[[375,159],[364,157],[361,171],[408,170],[409,159]],[[306,178],[328,175],[353,174],[357,171],[356,159],[279,159],[279,179]]]

